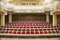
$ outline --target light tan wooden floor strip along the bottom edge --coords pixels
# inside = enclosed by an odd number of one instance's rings
[[[60,40],[60,38],[0,38],[0,40]]]

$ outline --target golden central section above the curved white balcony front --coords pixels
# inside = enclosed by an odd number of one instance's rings
[[[21,4],[28,4],[28,5],[31,5],[31,4],[43,4],[43,0],[12,0],[12,1],[8,1],[9,3],[12,3],[12,4],[16,4],[16,5],[21,5]]]

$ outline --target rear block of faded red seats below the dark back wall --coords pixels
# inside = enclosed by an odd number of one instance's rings
[[[51,25],[49,25],[48,23],[45,23],[43,21],[16,21],[13,23],[9,23],[6,25],[7,27],[51,27]]]

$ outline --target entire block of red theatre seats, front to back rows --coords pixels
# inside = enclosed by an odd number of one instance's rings
[[[6,34],[58,34],[59,31],[44,21],[15,21],[0,27],[0,33]]]

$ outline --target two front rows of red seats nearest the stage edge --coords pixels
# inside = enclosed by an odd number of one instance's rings
[[[23,32],[29,32],[29,34],[31,34],[31,32],[34,32],[34,34],[40,34],[42,32],[42,34],[57,34],[59,33],[58,30],[43,30],[43,29],[3,29],[0,30],[1,33],[12,33],[12,34],[18,34],[18,32],[20,32],[20,34],[22,34]],[[14,33],[15,32],[15,33]]]

